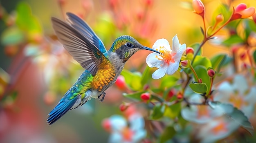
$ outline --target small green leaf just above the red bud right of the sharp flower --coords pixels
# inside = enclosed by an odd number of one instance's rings
[[[227,59],[227,54],[219,54],[214,56],[213,58],[211,58],[212,68],[218,73],[226,59]]]

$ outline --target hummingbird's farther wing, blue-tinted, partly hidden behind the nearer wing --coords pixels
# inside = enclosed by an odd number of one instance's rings
[[[101,51],[102,53],[105,53],[107,51],[103,42],[94,33],[94,31],[92,31],[90,26],[85,21],[81,20],[81,18],[79,18],[73,13],[67,13],[67,16],[68,20],[70,20],[71,22],[71,25],[77,31],[79,31],[86,39],[90,40],[90,42],[94,44],[94,46],[96,46],[99,49],[99,51]]]

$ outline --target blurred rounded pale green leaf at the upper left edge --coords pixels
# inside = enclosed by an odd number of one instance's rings
[[[3,45],[20,44],[24,40],[24,35],[20,29],[15,26],[9,27],[4,30],[1,35],[1,43]]]

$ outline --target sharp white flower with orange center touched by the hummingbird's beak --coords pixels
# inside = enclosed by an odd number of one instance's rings
[[[150,68],[159,68],[152,75],[153,79],[159,79],[163,77],[165,73],[172,75],[178,70],[180,59],[186,50],[186,44],[181,45],[177,35],[175,35],[173,37],[172,50],[166,39],[157,40],[152,48],[161,52],[162,55],[158,53],[150,53],[146,58],[146,63]]]

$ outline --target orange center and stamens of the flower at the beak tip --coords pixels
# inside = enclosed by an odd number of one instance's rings
[[[156,51],[158,51],[158,49],[156,49]],[[166,48],[164,48],[164,46],[160,46],[160,50],[159,52],[161,52],[162,54],[159,54],[160,57],[159,58],[157,55],[155,56],[157,59],[166,62],[169,65],[169,62],[174,63],[175,60],[173,59],[173,56],[176,55],[176,53],[171,53],[170,51],[168,51]]]

